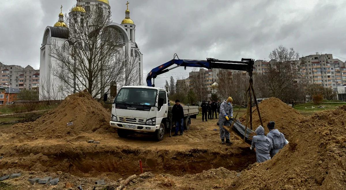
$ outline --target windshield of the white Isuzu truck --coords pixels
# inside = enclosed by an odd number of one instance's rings
[[[121,88],[114,103],[155,106],[156,89],[150,88]]]

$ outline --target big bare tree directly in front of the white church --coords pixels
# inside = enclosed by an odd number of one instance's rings
[[[122,37],[115,35],[117,29],[109,26],[110,18],[109,11],[96,6],[86,13],[66,16],[69,38],[63,47],[52,41],[50,53],[56,60],[52,74],[61,81],[65,92],[87,89],[96,97],[107,92],[110,83],[123,82],[124,77],[125,85],[134,83],[130,71],[136,70],[132,68],[135,64],[128,64],[133,60],[125,52]]]

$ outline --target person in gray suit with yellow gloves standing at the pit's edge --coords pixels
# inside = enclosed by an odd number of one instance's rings
[[[230,126],[232,122],[230,119],[234,119],[232,102],[233,99],[231,97],[228,97],[227,100],[222,102],[220,105],[219,128],[221,144],[225,144],[225,139],[226,144],[232,144],[229,141],[229,132],[223,127],[224,125]]]

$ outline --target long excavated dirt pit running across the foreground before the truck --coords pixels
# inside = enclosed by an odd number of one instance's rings
[[[238,153],[217,152],[208,149],[188,151],[124,149],[57,151],[29,150],[20,148],[20,154],[0,162],[0,169],[18,168],[25,171],[62,171],[78,177],[90,177],[101,173],[119,176],[140,173],[139,160],[143,170],[152,173],[174,175],[195,174],[213,168],[224,167],[240,171],[256,161],[248,150]]]

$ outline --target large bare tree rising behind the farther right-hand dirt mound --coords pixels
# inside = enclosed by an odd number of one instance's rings
[[[282,101],[293,99],[301,88],[297,83],[299,78],[298,52],[293,48],[279,46],[269,54],[269,58],[271,61],[268,65],[268,72],[262,77],[262,82],[265,84],[264,90]]]

